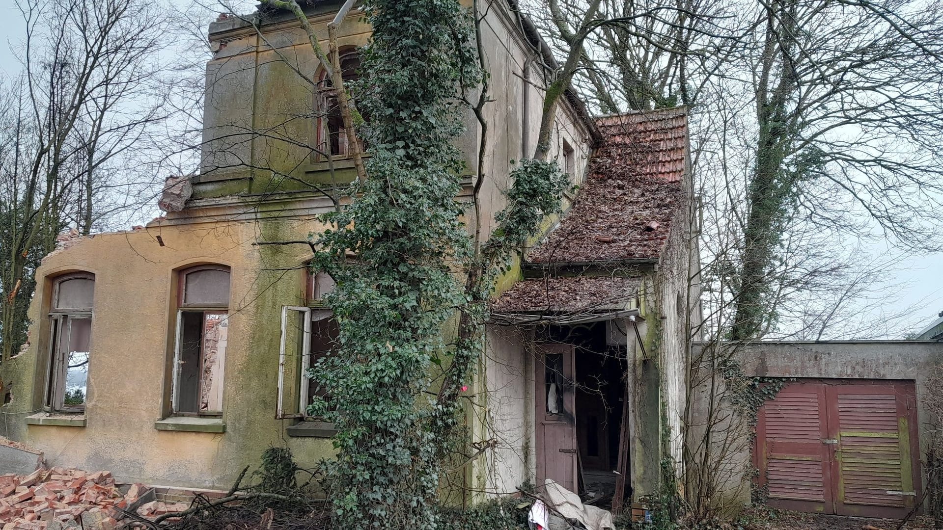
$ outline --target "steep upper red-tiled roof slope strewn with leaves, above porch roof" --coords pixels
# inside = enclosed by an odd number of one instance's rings
[[[604,143],[560,225],[533,263],[659,257],[680,205],[687,155],[685,108],[597,120]]]

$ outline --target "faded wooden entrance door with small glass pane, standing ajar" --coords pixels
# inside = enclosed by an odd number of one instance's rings
[[[541,344],[535,365],[537,480],[576,491],[576,371],[573,346]]]

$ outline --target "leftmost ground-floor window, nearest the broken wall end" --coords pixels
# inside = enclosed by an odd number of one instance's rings
[[[90,273],[67,274],[53,285],[51,355],[43,403],[48,410],[85,410],[94,293],[95,280]]]

